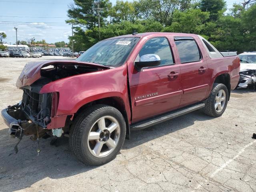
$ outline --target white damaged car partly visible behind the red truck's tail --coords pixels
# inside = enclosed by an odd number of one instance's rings
[[[238,87],[252,86],[256,90],[256,52],[244,52],[238,55],[240,58],[240,78]]]

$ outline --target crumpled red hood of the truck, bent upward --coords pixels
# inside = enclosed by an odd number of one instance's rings
[[[55,64],[61,64],[61,65],[77,64],[77,65],[84,65],[84,66],[96,66],[101,69],[109,68],[107,66],[101,66],[99,64],[94,64],[90,62],[80,62],[80,61],[74,61],[74,60],[49,60],[49,61],[40,61],[40,62],[29,62],[24,66],[20,76],[17,79],[17,82],[16,82],[17,88],[31,85],[36,80],[40,79],[41,68],[49,65],[55,65]]]

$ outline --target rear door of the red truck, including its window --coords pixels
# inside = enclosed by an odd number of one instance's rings
[[[198,44],[192,37],[174,37],[182,81],[180,106],[184,107],[206,98],[208,89],[208,68]]]

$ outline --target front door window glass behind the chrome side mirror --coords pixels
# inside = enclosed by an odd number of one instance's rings
[[[152,38],[148,40],[143,45],[136,60],[139,60],[139,57],[146,54],[158,55],[161,59],[160,65],[170,65],[174,63],[168,40],[164,37]]]

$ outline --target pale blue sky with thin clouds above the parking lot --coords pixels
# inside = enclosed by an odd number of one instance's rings
[[[116,2],[110,1],[113,4]],[[234,2],[241,1],[227,0],[227,8],[231,8]],[[7,35],[4,42],[16,43],[14,27],[18,28],[18,40],[35,37],[36,41],[45,39],[48,43],[68,42],[72,30],[65,20],[68,19],[68,5],[72,2],[73,0],[0,0],[0,32]]]

